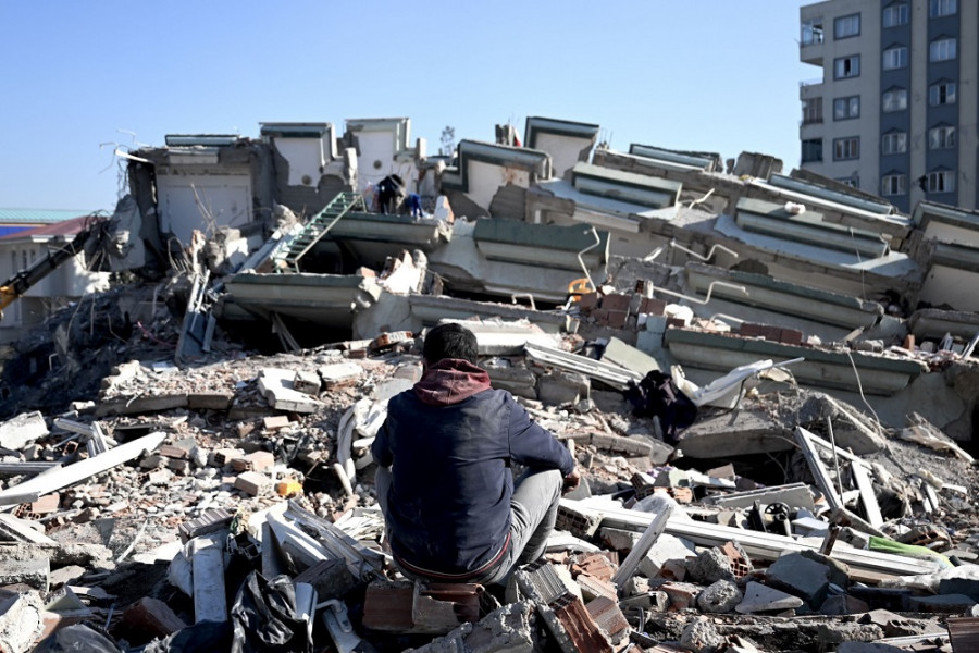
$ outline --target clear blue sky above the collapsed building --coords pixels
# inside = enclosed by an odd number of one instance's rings
[[[806,0],[0,0],[0,207],[111,210],[113,146],[261,121],[408,116],[492,140],[528,115],[798,164]],[[108,170],[107,170],[108,169]]]

